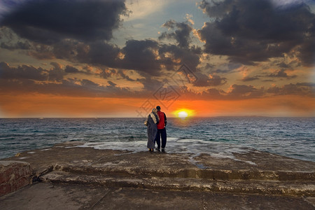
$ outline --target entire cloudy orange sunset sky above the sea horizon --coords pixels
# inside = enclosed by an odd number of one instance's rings
[[[157,105],[315,116],[315,1],[0,1],[0,118]]]

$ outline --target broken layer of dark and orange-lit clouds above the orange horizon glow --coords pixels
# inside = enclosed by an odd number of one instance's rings
[[[124,0],[23,2],[0,16],[0,94],[142,99],[168,85],[186,100],[314,97],[315,15],[303,1],[203,0],[204,27],[189,11],[161,15],[155,36],[138,39],[114,37],[132,12]],[[183,64],[189,82],[174,83]]]

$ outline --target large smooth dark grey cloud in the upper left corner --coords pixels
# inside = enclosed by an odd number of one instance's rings
[[[26,1],[5,15],[1,25],[38,43],[51,44],[64,38],[110,40],[121,14],[126,14],[123,0]]]

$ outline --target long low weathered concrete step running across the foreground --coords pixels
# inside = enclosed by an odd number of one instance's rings
[[[314,196],[314,183],[307,181],[209,181],[207,179],[167,177],[125,177],[52,172],[41,177],[52,183],[84,183],[107,187],[146,188],[151,190],[189,190],[216,193],[251,193],[260,195]]]

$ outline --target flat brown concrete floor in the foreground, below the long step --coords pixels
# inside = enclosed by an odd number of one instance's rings
[[[302,197],[35,183],[0,197],[0,209],[315,209]]]

